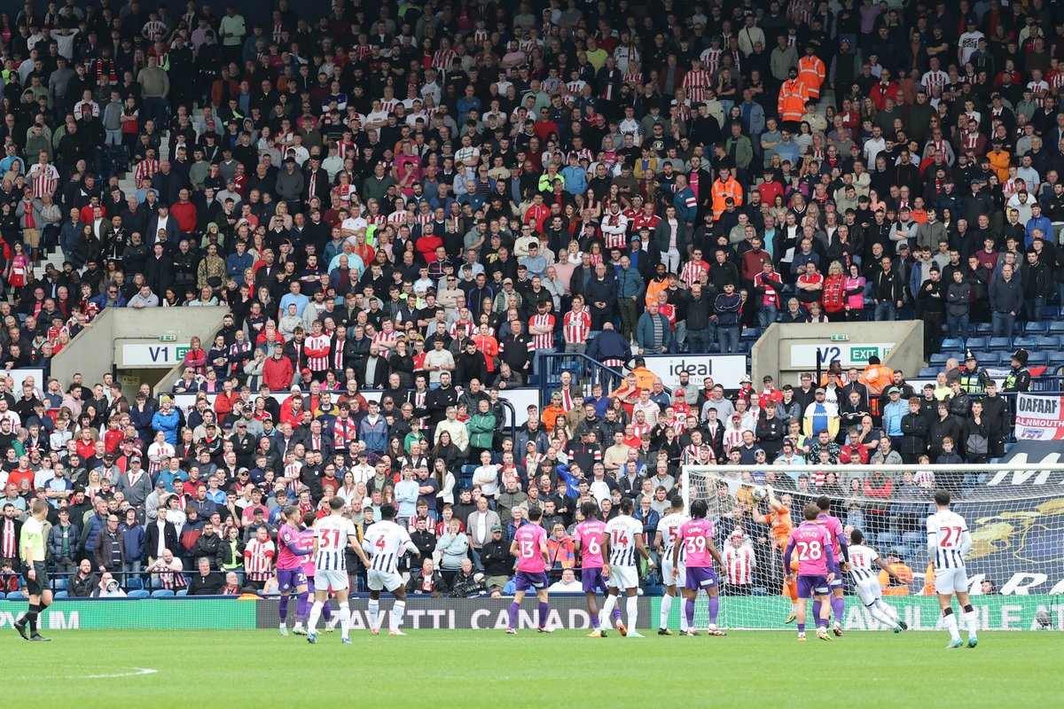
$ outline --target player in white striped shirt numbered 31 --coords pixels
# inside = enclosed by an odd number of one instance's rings
[[[351,629],[351,613],[347,604],[347,590],[350,580],[347,576],[347,561],[344,551],[350,546],[367,567],[369,560],[359,544],[359,530],[354,523],[344,517],[344,501],[333,497],[329,501],[331,514],[318,520],[314,525],[314,605],[311,607],[311,618],[306,623],[306,642],[312,645],[318,641],[318,619],[321,608],[329,603],[329,589],[336,594],[339,603],[339,627],[343,643],[350,645],[348,632]]]

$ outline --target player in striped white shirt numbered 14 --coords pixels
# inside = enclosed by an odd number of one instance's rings
[[[628,611],[629,630],[620,620],[617,620],[617,630],[621,636],[629,638],[642,638],[636,630],[635,622],[638,618],[639,590],[639,569],[637,557],[642,556],[647,560],[647,565],[653,569],[654,560],[650,558],[650,553],[643,543],[643,523],[632,517],[635,506],[631,497],[620,501],[620,514],[613,518],[605,524],[605,533],[602,535],[602,553],[609,559],[603,573],[610,576],[610,591],[606,594],[605,603],[602,604],[600,623],[604,626],[613,612],[613,607],[617,604],[617,594],[625,591],[628,596],[626,609]]]

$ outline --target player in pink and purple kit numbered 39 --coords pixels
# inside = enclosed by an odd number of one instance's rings
[[[683,597],[685,598],[683,612],[687,615],[687,634],[697,636],[695,629],[695,601],[698,598],[698,591],[705,590],[710,596],[710,629],[711,636],[727,635],[717,627],[717,614],[720,612],[720,598],[718,597],[717,575],[713,571],[714,559],[720,568],[725,568],[725,560],[720,557],[713,543],[713,522],[705,519],[709,513],[709,505],[704,500],[696,500],[691,503],[691,519],[680,525],[680,537],[672,548],[672,578],[680,574],[680,548],[683,547],[686,556],[685,564],[687,569],[687,579],[683,586]],[[675,580],[674,580],[675,583]]]

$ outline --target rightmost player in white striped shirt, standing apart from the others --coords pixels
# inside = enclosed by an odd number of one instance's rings
[[[949,508],[949,492],[934,493],[935,513],[928,517],[928,555],[934,565],[934,592],[938,594],[942,608],[942,623],[949,630],[947,649],[964,647],[961,631],[957,627],[952,600],[964,609],[964,623],[968,629],[968,647],[979,644],[979,612],[971,607],[968,598],[968,575],[964,570],[964,557],[971,551],[971,535],[964,518]]]

